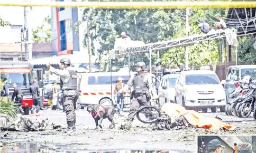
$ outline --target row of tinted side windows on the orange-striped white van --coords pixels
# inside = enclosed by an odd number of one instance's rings
[[[123,78],[123,83],[127,83],[130,79],[130,76],[113,76],[112,75],[112,84],[118,82],[118,78]],[[111,76],[98,76],[98,84],[111,84]]]

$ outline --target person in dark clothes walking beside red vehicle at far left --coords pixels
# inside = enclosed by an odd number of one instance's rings
[[[16,83],[13,83],[13,95],[12,95],[12,101],[14,100],[15,98],[15,103],[19,106],[19,110],[21,112],[22,115],[24,115],[24,111],[23,109],[21,108],[21,101],[22,101],[22,98],[23,98],[23,94],[21,92],[21,88],[17,86]]]

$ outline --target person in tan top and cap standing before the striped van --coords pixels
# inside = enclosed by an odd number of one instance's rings
[[[114,94],[116,94],[120,89],[124,87],[123,78],[119,77],[118,82],[115,84],[115,91]],[[121,111],[123,111],[124,108],[124,96],[120,93],[117,93],[117,108]],[[121,107],[120,107],[121,106]]]

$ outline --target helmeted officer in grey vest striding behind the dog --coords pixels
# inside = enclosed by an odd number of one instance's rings
[[[154,101],[158,99],[158,95],[150,75],[144,72],[145,68],[146,64],[144,62],[138,62],[136,64],[136,71],[138,73],[132,76],[127,84],[118,91],[118,93],[123,94],[133,87],[133,93],[131,95],[132,103],[127,119],[129,123],[126,129],[130,129],[131,122],[134,120],[136,111],[140,106],[148,105],[151,98]]]

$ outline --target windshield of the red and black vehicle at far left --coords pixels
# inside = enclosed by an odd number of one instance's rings
[[[30,74],[30,71],[20,71],[20,73],[17,73],[8,69],[8,71],[1,71],[1,79],[7,81],[8,87],[12,87],[12,84],[16,83],[19,87],[28,88],[31,82]]]

